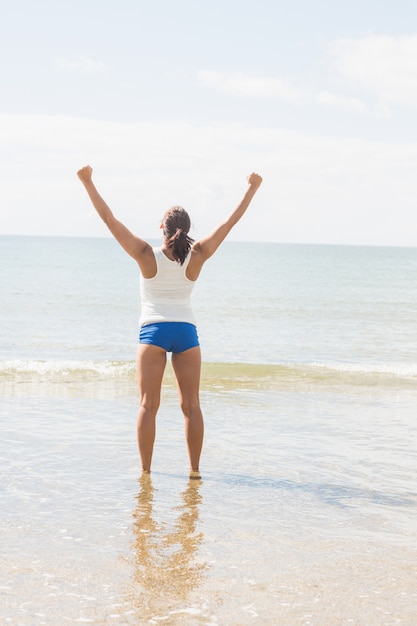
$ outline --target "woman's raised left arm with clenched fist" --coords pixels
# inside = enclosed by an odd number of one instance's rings
[[[146,257],[149,254],[151,247],[146,241],[131,233],[130,230],[124,226],[124,224],[119,222],[119,220],[114,217],[110,207],[97,191],[92,180],[92,174],[93,169],[89,165],[82,167],[77,172],[77,176],[84,185],[95,210],[106,224],[107,228],[120,243],[122,248],[139,263],[139,266],[142,267],[143,263],[146,263]]]

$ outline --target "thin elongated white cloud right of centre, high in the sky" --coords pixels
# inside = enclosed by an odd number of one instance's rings
[[[248,98],[295,101],[301,97],[301,92],[283,78],[202,70],[199,72],[199,81],[204,87]]]

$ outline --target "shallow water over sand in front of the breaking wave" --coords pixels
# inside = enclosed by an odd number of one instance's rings
[[[5,623],[414,623],[416,392],[204,391],[200,482],[168,385],[141,482],[133,389],[61,387],[2,404]]]

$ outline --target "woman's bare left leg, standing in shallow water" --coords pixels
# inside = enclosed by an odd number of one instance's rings
[[[158,346],[140,343],[136,355],[139,387],[138,448],[144,472],[151,471],[161,385],[167,355]]]

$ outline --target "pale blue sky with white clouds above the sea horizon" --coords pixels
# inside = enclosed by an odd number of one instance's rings
[[[0,234],[417,246],[415,0],[0,2]]]

